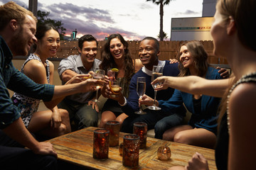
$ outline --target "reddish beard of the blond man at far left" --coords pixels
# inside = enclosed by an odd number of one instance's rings
[[[10,42],[10,49],[13,53],[14,57],[21,55],[26,56],[28,55],[28,50],[26,49],[27,41],[23,37],[23,28],[21,27],[21,30],[18,31],[12,38]]]

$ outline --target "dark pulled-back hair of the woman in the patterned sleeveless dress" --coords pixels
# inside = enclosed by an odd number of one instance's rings
[[[56,29],[51,23],[42,23],[36,27],[36,39],[42,40],[46,35],[48,30],[55,30],[58,33],[58,29]],[[37,45],[33,44],[33,50],[36,50]]]

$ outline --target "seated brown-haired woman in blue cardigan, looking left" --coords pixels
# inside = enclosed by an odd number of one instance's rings
[[[221,79],[218,69],[210,67],[207,58],[208,54],[201,42],[197,40],[183,42],[177,55],[178,67],[180,69],[178,76],[196,75],[206,79]],[[148,106],[151,106],[154,101],[148,96],[143,96],[142,100]],[[168,117],[163,118],[155,125],[156,137],[161,138],[162,136],[163,140],[213,148],[216,141],[216,113],[220,98],[201,94],[188,94],[176,89],[174,95],[168,101],[157,102],[160,108],[168,108],[170,111],[183,103],[188,111],[192,113],[188,125],[170,127]]]

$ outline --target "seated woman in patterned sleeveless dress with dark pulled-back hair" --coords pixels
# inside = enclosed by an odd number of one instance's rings
[[[28,56],[21,72],[38,84],[53,84],[54,65],[47,60],[55,57],[60,47],[60,35],[51,24],[38,26],[36,31],[36,51]],[[38,111],[40,100],[18,93],[12,96],[21,118],[30,132],[46,137],[57,137],[71,131],[68,111],[56,106],[61,100],[44,101],[48,111]]]

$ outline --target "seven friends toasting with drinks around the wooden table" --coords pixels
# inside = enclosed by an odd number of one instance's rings
[[[0,164],[4,169],[58,169],[53,146],[38,142],[38,135],[51,138],[89,126],[105,128],[108,120],[117,120],[122,132],[132,133],[135,122],[144,122],[158,139],[215,148],[218,169],[253,169],[256,33],[250,21],[256,16],[255,8],[253,0],[217,1],[211,28],[213,53],[228,60],[233,72],[229,78],[225,69],[208,64],[208,54],[197,40],[183,42],[176,60],[170,62],[159,60],[159,41],[146,37],[139,43],[138,62],[120,34],[106,40],[101,60],[96,59],[96,38],[83,35],[78,40],[80,55],[71,55],[58,66],[63,85],[54,86],[54,66],[47,58],[55,56],[60,47],[58,30],[49,23],[36,27],[33,13],[14,2],[0,6]],[[34,51],[19,72],[12,57],[27,56],[32,45]],[[151,82],[155,65],[164,67],[163,77]],[[112,68],[118,69],[120,81],[114,97],[109,77],[104,81],[86,78],[97,69],[107,72]],[[142,98],[137,94],[138,77],[146,79]],[[156,83],[160,85],[153,89]],[[102,86],[100,95],[107,98],[100,125],[94,100],[100,96],[95,93],[98,85]],[[135,114],[140,106],[154,104],[154,90],[161,110],[146,108],[146,114]],[[47,111],[38,111],[41,99]],[[191,118],[183,124],[186,110]],[[28,159],[33,163],[23,164]],[[208,169],[208,164],[196,153],[187,166],[170,169]]]

